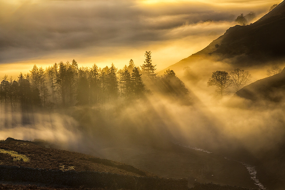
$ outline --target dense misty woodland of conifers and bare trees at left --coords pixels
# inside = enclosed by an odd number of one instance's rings
[[[36,65],[17,79],[3,77],[0,100],[13,109],[53,108],[74,105],[103,105],[130,102],[153,91],[171,97],[188,97],[184,83],[173,70],[157,76],[151,52],[145,53],[144,64],[136,67],[133,60],[122,69],[110,67],[78,67],[75,60],[59,62],[43,69]],[[154,90],[155,89],[155,90]]]

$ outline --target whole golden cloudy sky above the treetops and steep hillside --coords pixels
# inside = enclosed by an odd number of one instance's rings
[[[152,52],[160,71],[205,48],[250,11],[278,0],[0,0],[0,77],[75,59],[136,66]]]

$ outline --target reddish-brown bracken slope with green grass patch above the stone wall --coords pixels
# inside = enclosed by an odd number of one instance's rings
[[[133,166],[94,156],[46,148],[41,142],[7,138],[0,142],[0,164],[62,171],[99,171],[134,176],[156,176]]]

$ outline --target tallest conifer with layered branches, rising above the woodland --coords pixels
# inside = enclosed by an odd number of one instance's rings
[[[146,51],[145,54],[145,61],[144,64],[141,66],[142,68],[142,75],[145,79],[152,79],[156,77],[156,73],[154,71],[156,68],[154,68],[156,65],[152,65],[151,63],[151,52]]]

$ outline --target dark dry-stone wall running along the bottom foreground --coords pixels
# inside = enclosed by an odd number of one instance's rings
[[[188,190],[187,179],[138,177],[96,171],[62,171],[0,165],[0,180],[28,181],[72,187],[107,187],[131,190]]]

